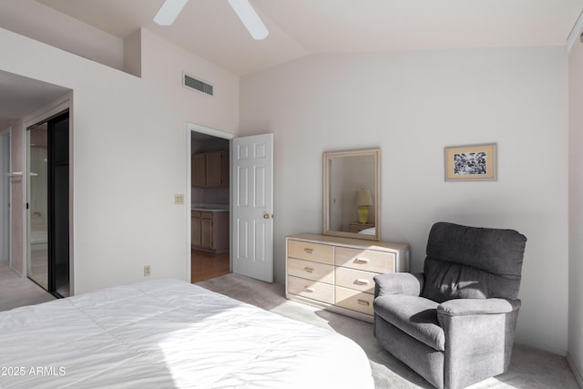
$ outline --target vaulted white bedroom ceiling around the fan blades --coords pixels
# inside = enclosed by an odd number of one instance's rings
[[[163,0],[36,0],[124,38],[140,26],[238,75],[318,53],[565,45],[583,0],[251,0],[254,41],[227,0],[190,0],[157,26]]]

